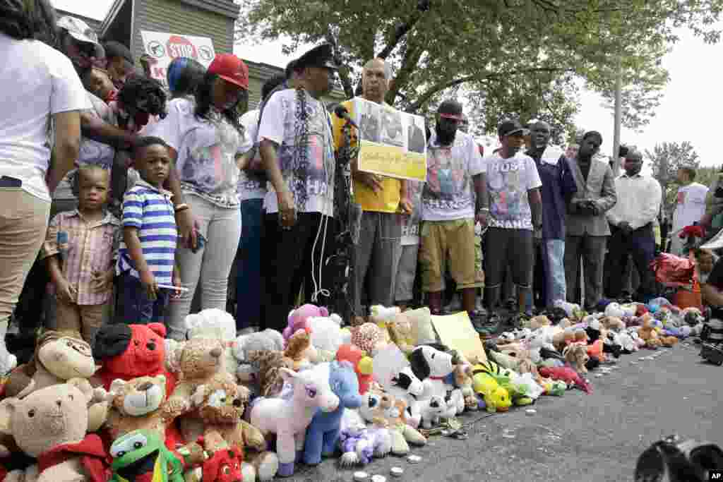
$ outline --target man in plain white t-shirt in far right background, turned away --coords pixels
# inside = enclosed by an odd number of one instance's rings
[[[696,168],[682,166],[677,170],[677,181],[680,183],[677,203],[673,212],[673,231],[670,239],[670,253],[682,256],[685,238],[680,238],[680,231],[685,226],[700,222],[706,213],[706,196],[708,188],[696,180]]]

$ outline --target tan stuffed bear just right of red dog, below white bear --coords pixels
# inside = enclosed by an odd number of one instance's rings
[[[216,374],[228,374],[225,366],[224,346],[221,340],[196,338],[173,346],[171,366],[176,366],[181,379],[173,394],[168,397],[166,408],[170,416],[181,416],[192,410],[191,396]]]

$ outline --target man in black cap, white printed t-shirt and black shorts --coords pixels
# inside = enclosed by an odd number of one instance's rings
[[[507,119],[500,123],[497,134],[502,147],[485,159],[490,198],[486,298],[492,316],[483,335],[493,335],[499,324],[496,311],[508,266],[517,287],[518,314],[523,316],[532,284],[533,231],[542,228],[542,181],[535,161],[521,152],[527,129]]]

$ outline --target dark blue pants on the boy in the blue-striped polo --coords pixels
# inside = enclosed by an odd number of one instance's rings
[[[147,324],[163,323],[163,312],[168,306],[166,289],[159,289],[155,301],[150,301],[140,280],[124,272],[119,277],[118,306],[116,307],[116,323]]]

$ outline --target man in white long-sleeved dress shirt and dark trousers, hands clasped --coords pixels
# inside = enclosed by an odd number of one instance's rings
[[[649,268],[655,257],[655,235],[653,224],[660,212],[660,184],[651,176],[643,176],[643,155],[630,151],[625,155],[625,173],[615,179],[617,204],[607,212],[610,223],[608,256],[612,273],[622,273],[633,257],[640,274],[638,301],[647,303],[656,294],[655,279]],[[608,296],[620,297],[623,283],[610,283]]]

